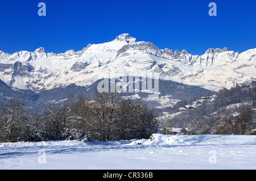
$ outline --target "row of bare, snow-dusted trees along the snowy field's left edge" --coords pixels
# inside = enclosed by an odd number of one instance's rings
[[[119,94],[96,94],[96,99],[68,99],[30,115],[19,98],[2,102],[0,142],[43,140],[127,140],[158,132],[152,110],[141,102],[121,100]]]

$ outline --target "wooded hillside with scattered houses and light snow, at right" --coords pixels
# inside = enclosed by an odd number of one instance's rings
[[[180,111],[185,105],[196,108]],[[250,134],[256,129],[256,82],[222,89],[210,98],[201,96],[177,102],[173,116],[162,127],[187,128],[188,134]]]

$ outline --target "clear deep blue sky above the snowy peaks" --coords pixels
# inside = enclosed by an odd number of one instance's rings
[[[38,3],[46,3],[46,16]],[[217,16],[209,16],[210,2]],[[1,0],[0,50],[64,53],[129,33],[158,48],[203,54],[208,48],[256,48],[256,1]]]

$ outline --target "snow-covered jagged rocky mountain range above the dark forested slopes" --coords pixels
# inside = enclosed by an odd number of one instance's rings
[[[8,54],[0,51],[0,79],[18,89],[50,90],[75,83],[91,85],[110,73],[146,76],[157,73],[160,79],[201,86],[218,91],[256,79],[256,49],[238,53],[227,48],[209,48],[203,55],[186,50],[159,49],[128,33],[113,41],[89,44],[75,52],[35,52]]]

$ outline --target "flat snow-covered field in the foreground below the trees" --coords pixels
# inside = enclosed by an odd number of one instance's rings
[[[0,143],[0,169],[256,169],[256,136],[163,135],[108,142]]]

